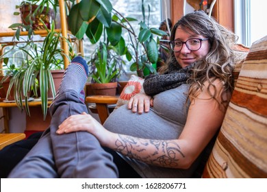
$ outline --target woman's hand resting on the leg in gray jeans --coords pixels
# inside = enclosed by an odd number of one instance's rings
[[[109,141],[111,132],[107,131],[99,121],[94,119],[86,112],[80,115],[71,115],[65,119],[59,126],[57,134],[66,134],[70,132],[86,131],[93,134],[101,145]]]

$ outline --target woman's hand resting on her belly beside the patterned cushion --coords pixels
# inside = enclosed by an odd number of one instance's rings
[[[153,98],[144,93],[138,93],[131,97],[128,103],[128,109],[132,112],[142,114],[143,112],[149,112],[150,106],[153,106]]]

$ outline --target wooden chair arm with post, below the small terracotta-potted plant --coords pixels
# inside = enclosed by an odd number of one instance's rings
[[[118,101],[118,97],[107,96],[107,95],[92,95],[86,97],[87,103],[94,103],[97,106],[97,113],[99,114],[99,119],[103,124],[105,119],[110,115],[108,110],[108,104],[116,104]]]

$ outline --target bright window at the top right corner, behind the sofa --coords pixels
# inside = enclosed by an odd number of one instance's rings
[[[238,43],[251,47],[251,44],[266,36],[266,0],[235,0],[235,33],[240,37]]]

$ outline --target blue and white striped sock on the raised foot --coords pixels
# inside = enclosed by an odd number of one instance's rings
[[[86,60],[81,58],[81,56],[75,57],[64,73],[57,95],[65,93],[68,89],[72,89],[79,94],[81,101],[84,101],[84,86],[87,78],[88,65]]]

